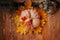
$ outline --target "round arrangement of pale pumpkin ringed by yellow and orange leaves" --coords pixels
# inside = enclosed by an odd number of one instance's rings
[[[28,6],[28,5],[29,6]],[[23,8],[22,8],[23,9]],[[46,23],[47,14],[40,8],[34,8],[31,3],[25,3],[24,10],[17,10],[19,13],[14,17],[14,23],[17,27],[17,32],[22,34],[30,33],[39,34],[42,32],[44,24]]]

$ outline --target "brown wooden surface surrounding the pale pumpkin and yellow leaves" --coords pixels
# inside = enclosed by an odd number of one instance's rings
[[[14,12],[0,10],[0,40],[60,40],[60,9],[53,15],[47,14],[47,23],[42,34],[19,35],[12,23]]]

